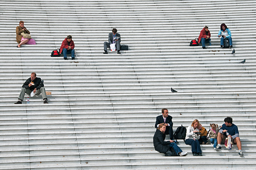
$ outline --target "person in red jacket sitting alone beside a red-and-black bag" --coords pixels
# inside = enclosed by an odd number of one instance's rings
[[[64,55],[64,59],[67,60],[67,54],[71,54],[72,59],[75,59],[75,44],[72,40],[72,36],[68,35],[67,38],[65,38],[64,41],[62,41],[61,47],[60,47],[60,54]]]

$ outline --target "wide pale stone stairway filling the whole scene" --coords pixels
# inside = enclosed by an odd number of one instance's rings
[[[255,9],[253,0],[1,1],[0,170],[255,169]],[[36,45],[16,48],[20,20]],[[220,48],[221,23],[235,54]],[[211,45],[190,47],[206,25]],[[103,54],[112,28],[128,51]],[[50,57],[67,35],[76,59]],[[25,95],[14,105],[31,72],[51,92],[49,104]],[[244,156],[236,145],[201,145],[195,157],[183,140],[186,157],[158,153],[152,137],[162,108],[174,131],[231,116]]]

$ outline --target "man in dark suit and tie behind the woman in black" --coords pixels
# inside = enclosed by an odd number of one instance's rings
[[[168,115],[167,109],[162,109],[162,115],[157,116],[157,120],[155,121],[155,128],[158,128],[158,126],[161,123],[164,123],[166,126],[166,130],[164,132],[165,135],[170,135],[170,139],[173,140],[173,117]]]

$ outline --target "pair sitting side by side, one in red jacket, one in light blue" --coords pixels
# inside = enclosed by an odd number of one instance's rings
[[[220,38],[220,47],[224,48],[224,40],[227,38],[229,40],[229,48],[232,48],[232,38],[231,31],[227,28],[226,24],[220,25],[220,30],[218,33],[218,37]],[[198,43],[202,44],[203,49],[206,49],[205,44],[209,43],[211,45],[211,33],[209,28],[205,26],[203,30],[201,30],[200,35],[198,37]]]

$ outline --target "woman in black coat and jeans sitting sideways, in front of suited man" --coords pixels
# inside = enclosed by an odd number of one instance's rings
[[[170,149],[172,147],[173,150],[176,152],[177,156],[186,156],[187,152],[182,152],[180,147],[178,147],[177,144],[174,143],[174,140],[164,141],[165,130],[166,130],[166,126],[164,125],[164,123],[161,123],[158,126],[157,131],[155,132],[155,135],[153,137],[153,143],[154,143],[155,150],[160,153],[165,153],[165,152],[167,152],[168,149]]]

